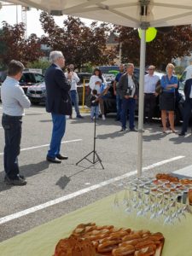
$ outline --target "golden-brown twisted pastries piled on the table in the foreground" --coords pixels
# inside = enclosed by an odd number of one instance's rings
[[[79,224],[72,235],[90,240],[96,248],[96,255],[106,256],[160,256],[165,241],[161,233],[92,223]]]

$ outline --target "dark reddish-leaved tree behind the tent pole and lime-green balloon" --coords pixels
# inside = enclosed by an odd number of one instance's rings
[[[125,26],[115,26],[115,31],[119,32],[119,42],[122,42],[123,61],[139,65],[140,38],[137,30]],[[157,32],[156,38],[146,44],[146,65],[154,64],[156,67],[165,68],[173,58],[190,55],[191,43],[191,26],[174,26],[170,32]]]

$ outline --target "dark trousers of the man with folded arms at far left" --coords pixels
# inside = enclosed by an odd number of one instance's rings
[[[22,117],[3,113],[2,126],[5,138],[4,171],[10,179],[16,179],[20,172],[18,155],[20,154]]]

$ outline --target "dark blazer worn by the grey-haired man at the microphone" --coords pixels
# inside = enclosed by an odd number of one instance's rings
[[[44,81],[47,90],[47,112],[70,115],[71,113],[68,113],[65,104],[68,101],[71,104],[69,96],[71,85],[67,81],[61,68],[57,67],[55,64],[52,64],[45,73]]]

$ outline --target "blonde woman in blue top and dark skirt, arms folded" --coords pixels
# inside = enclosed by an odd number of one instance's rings
[[[162,92],[160,94],[160,110],[161,121],[163,125],[163,133],[166,133],[166,113],[170,122],[170,130],[175,131],[174,127],[174,111],[175,111],[175,90],[177,88],[177,76],[173,74],[174,65],[169,63],[166,66],[166,75],[160,80]]]

